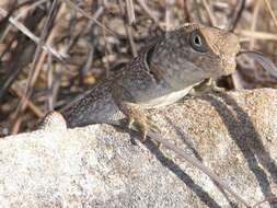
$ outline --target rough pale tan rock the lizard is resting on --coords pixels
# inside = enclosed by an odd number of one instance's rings
[[[277,90],[187,99],[150,113],[171,142],[250,205],[277,196]],[[243,207],[173,152],[137,138],[91,125],[2,139],[0,207]]]

